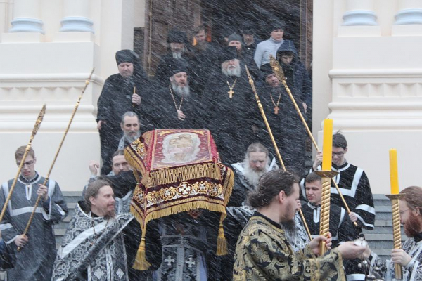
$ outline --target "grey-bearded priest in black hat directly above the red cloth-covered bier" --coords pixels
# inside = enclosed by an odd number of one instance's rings
[[[155,129],[204,129],[203,105],[189,87],[186,60],[174,62],[163,83],[167,85],[153,95]]]

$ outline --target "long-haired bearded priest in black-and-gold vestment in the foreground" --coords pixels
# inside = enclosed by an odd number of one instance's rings
[[[364,247],[345,242],[319,254],[316,237],[304,249],[294,251],[281,227],[293,220],[299,199],[298,179],[288,171],[269,171],[260,179],[248,202],[257,212],[239,236],[234,264],[234,280],[345,280],[343,259],[362,255]]]

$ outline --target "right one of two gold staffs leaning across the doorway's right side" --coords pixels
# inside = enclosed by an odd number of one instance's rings
[[[316,150],[320,151],[318,145],[316,144],[314,136],[312,136],[311,130],[309,130],[309,126],[307,125],[305,118],[303,118],[302,112],[300,112],[300,109],[298,107],[298,103],[296,103],[295,97],[293,97],[292,92],[288,88],[288,85],[287,85],[287,82],[286,82],[286,77],[284,77],[284,72],[281,69],[279,62],[277,62],[277,60],[272,55],[269,56],[269,60],[270,60],[270,65],[271,65],[271,67],[274,71],[274,74],[276,74],[276,77],[281,81],[281,83],[283,83],[284,88],[286,89],[288,96],[290,97],[290,100],[292,100],[293,105],[295,105],[295,109],[298,112],[298,115],[299,115],[300,119],[302,120],[302,123],[305,125],[305,129],[306,129],[306,131],[309,135],[309,138],[311,138],[312,143],[314,143]],[[334,183],[335,189],[337,190],[338,195],[340,195],[340,198],[343,201],[343,204],[345,205],[347,214],[350,214],[350,208],[347,205],[347,202],[346,202],[345,198],[343,197],[343,194],[341,193],[340,188],[338,188],[338,185],[335,182],[334,178],[331,178],[331,181]],[[358,227],[356,221],[353,224],[354,224],[355,227]]]

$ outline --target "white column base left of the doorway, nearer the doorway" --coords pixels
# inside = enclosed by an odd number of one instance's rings
[[[89,19],[89,6],[87,0],[64,0],[60,32],[92,32],[94,22]]]

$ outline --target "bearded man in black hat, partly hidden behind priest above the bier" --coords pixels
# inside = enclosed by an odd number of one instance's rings
[[[188,43],[188,37],[186,32],[173,28],[167,34],[167,43],[169,44],[169,51],[161,57],[155,71],[154,80],[158,86],[167,86],[173,65],[177,64],[178,60],[187,60],[186,44]]]

